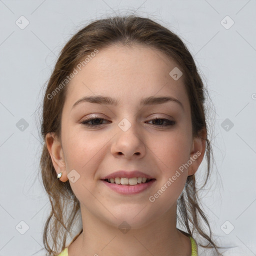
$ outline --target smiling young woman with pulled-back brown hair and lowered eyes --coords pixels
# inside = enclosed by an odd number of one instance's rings
[[[210,173],[204,89],[184,43],[149,18],[95,20],[72,36],[43,100],[47,255],[222,255],[194,176],[204,155],[205,183]]]

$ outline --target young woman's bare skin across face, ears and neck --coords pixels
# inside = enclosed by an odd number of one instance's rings
[[[75,169],[80,177],[71,188],[80,201],[83,232],[69,245],[68,255],[190,256],[190,239],[176,228],[176,200],[187,175],[196,172],[205,140],[192,137],[189,99],[183,76],[169,72],[177,64],[157,49],[136,45],[109,46],[96,54],[68,84],[61,115],[61,139],[45,137],[60,181]],[[72,105],[86,95],[100,94],[119,100],[117,106],[90,102]],[[140,106],[147,96],[172,96],[176,102]],[[81,123],[95,113],[104,118],[97,128]],[[118,123],[126,118],[125,132]],[[167,118],[176,123],[160,126]],[[157,126],[158,125],[158,126]],[[202,131],[202,137],[205,137]],[[196,152],[201,154],[155,199],[149,201],[176,170]],[[116,170],[140,170],[155,177],[154,184],[135,195],[121,195],[100,180]],[[68,182],[68,181],[67,181]],[[118,226],[126,221],[130,229]]]

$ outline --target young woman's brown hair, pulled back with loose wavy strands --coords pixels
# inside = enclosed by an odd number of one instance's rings
[[[64,86],[63,81],[73,71],[77,63],[84,60],[95,49],[100,50],[110,45],[133,44],[148,45],[160,50],[177,63],[183,72],[184,85],[189,97],[193,136],[200,136],[200,131],[207,127],[204,106],[205,88],[193,57],[176,34],[152,19],[136,15],[103,18],[92,21],[80,29],[62,48],[43,98],[41,135],[44,144],[40,169],[42,182],[51,203],[51,212],[43,232],[43,244],[48,252],[47,255],[56,255],[64,249],[67,234],[70,234],[75,217],[80,212],[79,201],[69,182],[55,182],[57,180],[56,172],[45,143],[45,135],[48,132],[53,132],[60,138],[61,111],[67,89],[67,85]],[[60,84],[63,86],[59,86]],[[61,89],[56,92],[57,87]],[[55,93],[52,93],[54,90]],[[52,95],[54,96],[52,97]],[[212,155],[211,144],[207,136],[204,138],[206,140],[207,172],[203,186],[209,178],[210,156]],[[177,211],[177,219],[188,234],[192,236],[195,230],[208,241],[207,245],[200,244],[201,246],[214,247],[218,255],[221,255],[217,250],[219,247],[212,240],[212,232],[207,218],[199,206],[194,175],[190,175],[186,179],[185,187],[177,200]],[[203,228],[202,222],[206,223],[209,228],[209,234]],[[58,239],[61,244],[58,243]],[[49,242],[53,244],[51,245]]]

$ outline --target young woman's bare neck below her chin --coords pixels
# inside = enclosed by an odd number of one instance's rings
[[[140,228],[126,230],[102,221],[81,206],[83,231],[69,245],[68,256],[190,256],[189,237],[176,228],[176,204]],[[125,227],[125,224],[123,224]]]

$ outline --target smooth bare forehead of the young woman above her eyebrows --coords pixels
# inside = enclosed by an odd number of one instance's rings
[[[98,51],[67,85],[69,108],[86,95],[113,96],[134,104],[141,97],[170,95],[185,105],[183,76],[174,80],[169,72],[178,67],[161,51],[143,45],[108,46]]]

